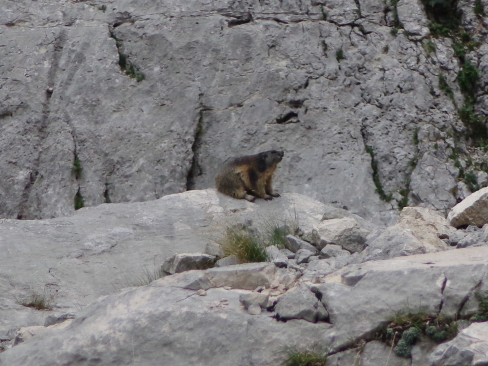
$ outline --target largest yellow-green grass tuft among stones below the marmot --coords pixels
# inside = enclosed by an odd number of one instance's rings
[[[226,256],[234,255],[240,263],[268,260],[264,241],[256,231],[247,227],[230,227],[220,245]]]

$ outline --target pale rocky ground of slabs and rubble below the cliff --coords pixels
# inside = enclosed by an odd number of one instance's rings
[[[0,364],[275,365],[305,351],[337,366],[484,364],[488,323],[472,317],[488,316],[488,225],[469,220],[486,195],[448,219],[407,207],[387,228],[299,194],[213,189],[3,220]],[[268,261],[227,264],[229,228],[270,225],[293,233]],[[26,307],[33,294],[49,310]],[[399,356],[407,315],[422,332]]]

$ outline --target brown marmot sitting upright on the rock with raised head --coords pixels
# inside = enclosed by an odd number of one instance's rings
[[[232,159],[215,178],[219,192],[234,198],[254,202],[256,197],[265,200],[280,197],[273,192],[272,178],[276,166],[283,159],[283,150],[269,150],[256,155]]]

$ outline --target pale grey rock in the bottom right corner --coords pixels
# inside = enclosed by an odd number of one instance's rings
[[[473,323],[437,347],[431,366],[481,366],[488,364],[488,323]]]

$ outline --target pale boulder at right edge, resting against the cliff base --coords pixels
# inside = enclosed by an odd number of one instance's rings
[[[451,208],[449,223],[459,228],[465,225],[483,226],[488,223],[488,187],[472,193]]]

